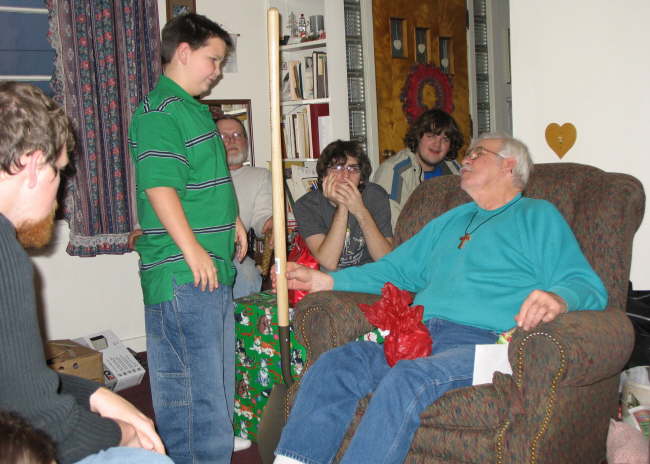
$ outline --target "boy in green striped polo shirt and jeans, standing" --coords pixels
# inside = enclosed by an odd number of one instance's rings
[[[156,420],[175,463],[229,463],[233,447],[232,264],[246,233],[206,105],[228,33],[196,14],[162,32],[164,75],[133,115],[137,241]]]

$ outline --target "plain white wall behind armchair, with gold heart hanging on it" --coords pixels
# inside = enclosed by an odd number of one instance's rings
[[[650,195],[649,17],[647,0],[510,2],[513,131],[536,162],[558,161],[546,126],[571,122],[562,161],[632,174]],[[637,289],[650,288],[649,215],[634,242]]]

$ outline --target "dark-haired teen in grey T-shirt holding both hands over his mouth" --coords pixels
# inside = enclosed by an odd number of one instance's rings
[[[356,142],[332,142],[316,165],[319,189],[296,202],[298,230],[325,270],[370,263],[392,249],[388,195],[368,182],[371,169]]]

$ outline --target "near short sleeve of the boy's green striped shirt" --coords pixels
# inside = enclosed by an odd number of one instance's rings
[[[182,197],[190,161],[178,122],[166,113],[152,111],[136,116],[131,126],[138,194],[154,187],[172,187]]]

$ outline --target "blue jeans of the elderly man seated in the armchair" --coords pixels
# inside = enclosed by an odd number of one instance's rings
[[[420,413],[443,393],[472,384],[474,345],[498,334],[441,319],[425,322],[431,356],[392,368],[384,348],[352,342],[322,355],[307,371],[275,453],[307,464],[334,460],[359,400],[372,399],[342,463],[402,463]]]

